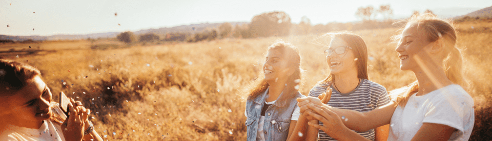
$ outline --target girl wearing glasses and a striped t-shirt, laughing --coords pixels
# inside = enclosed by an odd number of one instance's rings
[[[330,40],[328,49],[324,51],[330,75],[318,82],[309,96],[328,94],[325,99],[331,100],[324,101],[323,105],[359,112],[372,111],[389,103],[386,88],[368,80],[367,46],[359,35],[348,32],[328,33],[318,39]],[[299,117],[294,136],[290,140],[335,140],[323,130],[308,127],[308,121],[321,126],[325,124],[303,114]],[[374,128],[357,133],[370,140],[386,139],[388,125]]]

